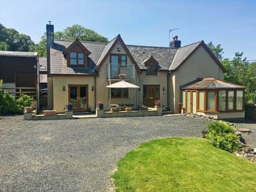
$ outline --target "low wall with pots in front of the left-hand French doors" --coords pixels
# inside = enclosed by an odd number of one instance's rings
[[[73,111],[65,111],[65,114],[55,115],[33,115],[33,113],[24,113],[25,120],[52,120],[52,119],[71,119]]]

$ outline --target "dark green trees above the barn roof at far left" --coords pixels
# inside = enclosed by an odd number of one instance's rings
[[[6,28],[0,23],[0,50],[29,51],[34,46],[30,36],[20,34],[17,30]]]

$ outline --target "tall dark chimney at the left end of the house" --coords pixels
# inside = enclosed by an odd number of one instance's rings
[[[49,24],[46,24],[46,47],[47,47],[47,76],[51,76],[51,63],[50,63],[50,47],[54,42],[54,26],[49,21]]]

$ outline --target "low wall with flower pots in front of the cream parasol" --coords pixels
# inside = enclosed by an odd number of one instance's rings
[[[97,117],[140,117],[140,116],[160,116],[162,115],[162,107],[148,108],[146,111],[134,110],[134,111],[103,111],[96,109]]]

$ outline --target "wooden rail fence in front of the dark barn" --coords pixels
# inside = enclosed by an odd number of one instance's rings
[[[34,99],[37,98],[36,87],[3,87],[3,90],[7,91],[10,95],[13,95],[15,99],[18,99],[22,94],[29,95]]]

